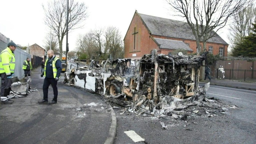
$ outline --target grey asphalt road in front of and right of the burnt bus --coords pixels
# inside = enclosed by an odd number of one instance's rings
[[[207,96],[227,103],[227,114],[214,113],[213,117],[198,116],[187,121],[172,118],[120,114],[124,108],[114,109],[117,115],[115,144],[135,143],[125,131],[133,130],[145,141],[136,144],[255,144],[256,91],[210,86]],[[236,107],[241,106],[241,107]],[[160,121],[167,125],[161,128]]]

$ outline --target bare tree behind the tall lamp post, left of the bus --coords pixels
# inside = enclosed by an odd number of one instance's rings
[[[59,52],[62,57],[62,42],[66,35],[66,0],[54,0],[48,2],[47,7],[43,5],[45,11],[45,24],[53,30],[58,37]],[[87,7],[85,3],[69,0],[68,31],[82,27],[82,22],[87,18]]]

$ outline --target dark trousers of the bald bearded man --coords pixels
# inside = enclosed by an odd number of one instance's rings
[[[45,78],[43,81],[43,99],[45,101],[48,101],[48,88],[51,85],[53,87],[53,100],[57,102],[57,97],[58,97],[58,88],[57,88],[57,81],[55,78]]]

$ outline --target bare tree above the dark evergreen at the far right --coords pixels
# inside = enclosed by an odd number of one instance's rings
[[[231,48],[234,47],[236,43],[240,43],[243,37],[246,37],[253,30],[252,23],[256,19],[256,7],[251,4],[250,6],[243,9],[237,15],[232,16],[233,22],[229,29],[229,40],[231,42]]]

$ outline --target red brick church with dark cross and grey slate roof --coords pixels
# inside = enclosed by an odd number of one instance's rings
[[[125,35],[124,45],[124,57],[132,59],[140,59],[150,54],[152,49],[160,50],[161,54],[176,49],[185,49],[187,53],[197,52],[195,38],[187,23],[139,14],[137,10]],[[227,56],[228,46],[218,34],[206,43],[206,49],[213,55]]]

